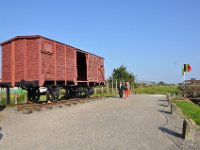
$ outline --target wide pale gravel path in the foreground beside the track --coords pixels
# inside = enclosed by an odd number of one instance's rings
[[[165,98],[107,98],[32,114],[6,109],[0,112],[0,149],[179,150],[173,139],[181,141],[181,124],[170,134]]]

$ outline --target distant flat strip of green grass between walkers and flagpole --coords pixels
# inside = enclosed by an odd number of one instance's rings
[[[180,94],[177,86],[146,86],[136,88],[137,94]]]

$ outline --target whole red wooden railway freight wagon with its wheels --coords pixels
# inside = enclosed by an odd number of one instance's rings
[[[52,39],[17,36],[1,43],[4,87],[27,90],[38,101],[39,88],[47,88],[47,100],[57,101],[64,88],[67,97],[91,95],[92,87],[105,83],[104,59]]]

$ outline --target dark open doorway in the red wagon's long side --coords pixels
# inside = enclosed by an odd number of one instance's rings
[[[77,51],[77,80],[87,81],[86,54]]]

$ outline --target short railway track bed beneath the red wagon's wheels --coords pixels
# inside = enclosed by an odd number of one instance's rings
[[[71,106],[76,104],[83,104],[95,100],[101,100],[104,97],[88,97],[88,98],[74,98],[69,100],[61,100],[57,102],[38,102],[38,103],[26,103],[26,104],[17,104],[16,110],[22,111],[24,113],[31,113],[33,111],[41,111],[42,109],[52,109],[53,107],[64,107]]]

